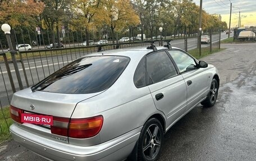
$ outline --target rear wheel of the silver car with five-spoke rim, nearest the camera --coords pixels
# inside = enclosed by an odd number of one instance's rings
[[[138,160],[157,160],[163,145],[163,127],[156,118],[149,119],[143,126],[138,140]]]

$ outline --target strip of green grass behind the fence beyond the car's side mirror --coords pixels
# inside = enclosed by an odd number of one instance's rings
[[[189,50],[188,53],[191,54],[191,56],[193,56],[194,58],[200,59],[200,58],[208,56],[209,54],[220,52],[221,50],[224,50],[224,49],[223,48],[221,48],[221,49],[213,48],[212,52],[210,52],[209,48],[202,48],[201,56],[199,56],[199,49]]]

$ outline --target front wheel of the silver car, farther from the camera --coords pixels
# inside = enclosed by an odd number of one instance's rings
[[[203,100],[203,102],[201,102],[203,106],[212,107],[216,103],[217,96],[218,96],[218,88],[219,86],[218,86],[217,80],[213,79],[207,98]]]

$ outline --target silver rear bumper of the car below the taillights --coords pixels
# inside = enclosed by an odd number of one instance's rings
[[[10,127],[12,137],[25,148],[48,160],[122,160],[134,148],[141,128],[94,146],[77,146],[47,139],[23,130],[16,123]]]

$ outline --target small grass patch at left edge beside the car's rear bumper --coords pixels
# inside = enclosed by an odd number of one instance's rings
[[[0,109],[0,144],[4,141],[11,139],[11,134],[9,132],[9,126],[12,125],[12,119],[10,117],[10,110],[8,107],[3,107]],[[7,123],[8,125],[7,125]]]

